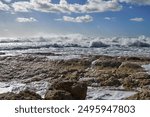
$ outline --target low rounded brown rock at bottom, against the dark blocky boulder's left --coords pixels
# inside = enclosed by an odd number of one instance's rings
[[[71,93],[65,90],[49,90],[45,95],[46,100],[72,100]]]

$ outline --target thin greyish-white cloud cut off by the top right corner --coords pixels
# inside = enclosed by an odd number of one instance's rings
[[[119,0],[119,1],[138,5],[150,5],[150,0]]]

